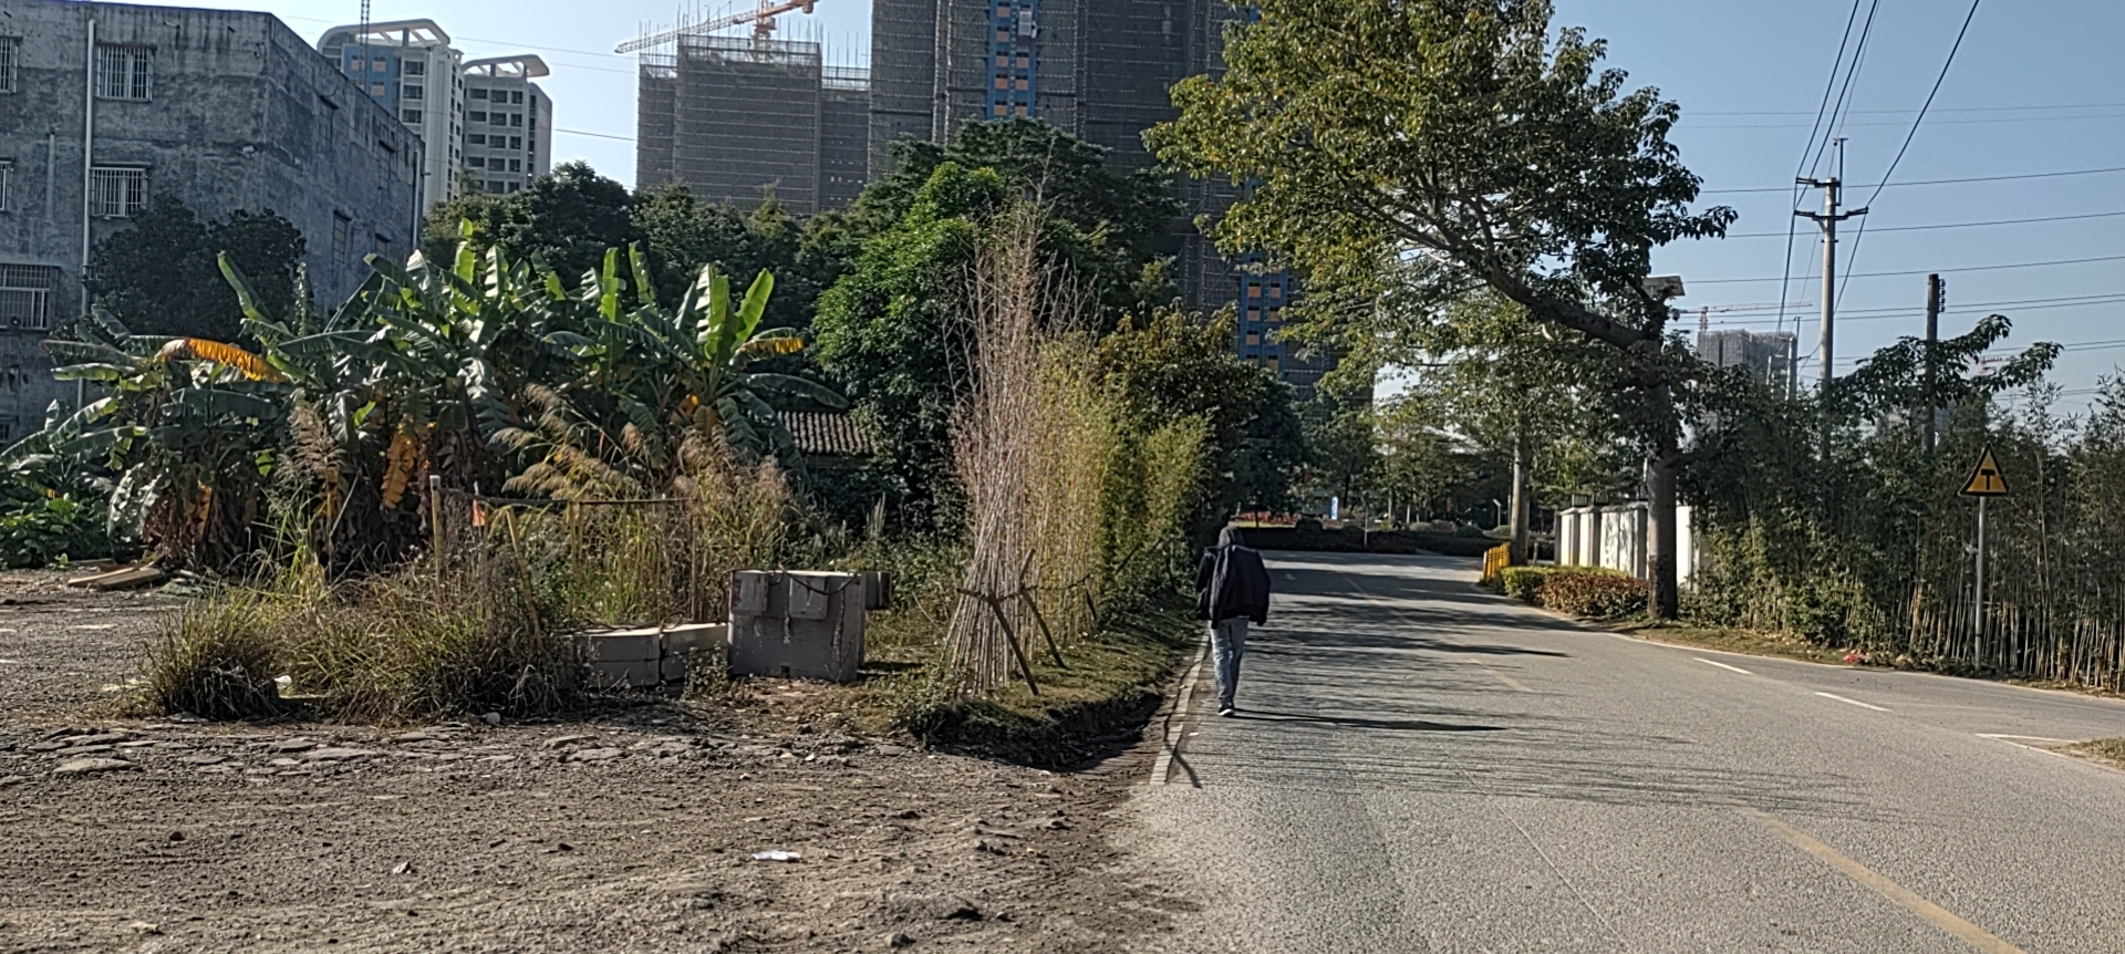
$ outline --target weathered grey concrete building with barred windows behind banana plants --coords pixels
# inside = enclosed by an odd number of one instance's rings
[[[272,210],[321,302],[419,236],[421,140],[266,13],[0,0],[0,442],[72,385],[38,342],[85,310],[94,242],[149,195]]]

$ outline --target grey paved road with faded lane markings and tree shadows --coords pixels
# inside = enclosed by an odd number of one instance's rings
[[[1993,737],[2121,703],[1624,640],[1468,561],[1271,572],[1241,718],[1198,691],[1137,799],[1179,948],[2125,952],[2125,773]]]

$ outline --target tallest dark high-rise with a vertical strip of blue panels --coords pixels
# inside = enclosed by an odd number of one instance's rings
[[[873,0],[871,178],[892,142],[941,142],[967,121],[1037,117],[1105,147],[1124,168],[1154,159],[1143,132],[1173,119],[1169,89],[1224,70],[1224,28],[1245,11],[1226,0]],[[1279,342],[1294,285],[1230,263],[1194,227],[1239,198],[1230,183],[1179,183],[1188,217],[1173,223],[1175,278],[1190,308],[1235,306],[1232,348],[1277,368],[1300,397],[1332,359],[1300,359]]]

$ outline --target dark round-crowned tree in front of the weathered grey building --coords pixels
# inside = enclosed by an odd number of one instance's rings
[[[155,195],[132,225],[96,242],[85,283],[89,300],[132,334],[238,340],[242,310],[215,263],[221,253],[253,276],[264,310],[295,306],[306,242],[272,210],[200,221],[183,200]]]

